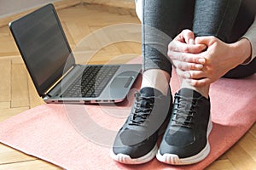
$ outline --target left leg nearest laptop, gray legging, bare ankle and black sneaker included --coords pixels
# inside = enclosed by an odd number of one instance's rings
[[[172,112],[169,88],[172,65],[166,57],[167,46],[177,35],[187,2],[143,0],[143,84],[135,95],[130,116],[113,143],[111,156],[116,161],[144,163],[153,159],[157,152],[157,139]]]

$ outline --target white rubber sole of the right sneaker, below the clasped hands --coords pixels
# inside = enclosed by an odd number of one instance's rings
[[[195,156],[190,156],[190,157],[186,157],[186,158],[179,158],[175,154],[164,154],[162,156],[160,154],[160,150],[159,150],[156,155],[156,158],[159,161],[162,161],[164,163],[171,164],[171,165],[189,165],[189,164],[194,164],[199,161],[202,161],[210,153],[210,144],[208,142],[208,137],[209,137],[209,134],[211,133],[211,131],[212,131],[212,121],[211,121],[211,117],[210,117],[208,127],[207,127],[207,145],[205,146],[205,148],[203,150],[201,150],[201,152],[199,152]]]

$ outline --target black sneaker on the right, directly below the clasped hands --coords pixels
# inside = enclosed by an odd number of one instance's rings
[[[175,94],[172,118],[157,159],[172,165],[202,161],[210,152],[208,136],[211,130],[210,99],[195,90],[182,88]]]

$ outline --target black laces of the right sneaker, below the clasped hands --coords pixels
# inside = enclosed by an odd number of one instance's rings
[[[195,103],[197,99],[185,98],[176,94],[178,99],[177,103],[174,103],[174,116],[172,117],[172,126],[191,128],[195,115]],[[191,105],[188,105],[188,104]]]

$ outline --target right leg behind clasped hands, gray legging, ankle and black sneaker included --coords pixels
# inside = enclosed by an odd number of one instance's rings
[[[196,0],[195,36],[211,35],[227,41],[239,8],[240,0]],[[183,81],[174,97],[172,118],[156,156],[159,161],[185,165],[208,156],[208,135],[212,129],[209,88],[194,88]]]

